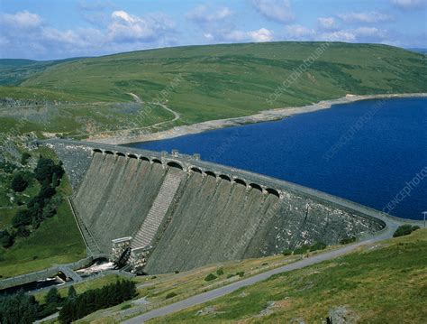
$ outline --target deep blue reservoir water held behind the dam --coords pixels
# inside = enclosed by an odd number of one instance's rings
[[[427,98],[364,100],[129,146],[200,153],[398,217],[421,219],[427,210]]]

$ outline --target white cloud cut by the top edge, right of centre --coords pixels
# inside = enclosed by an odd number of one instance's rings
[[[290,23],[295,19],[289,0],[252,0],[259,14],[276,23]]]

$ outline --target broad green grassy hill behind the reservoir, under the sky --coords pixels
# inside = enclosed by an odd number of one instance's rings
[[[130,92],[149,102],[160,96],[181,115],[168,125],[170,127],[247,116],[268,108],[304,106],[348,93],[427,91],[427,66],[421,54],[386,45],[333,42],[269,105],[266,99],[322,44],[188,46],[71,60],[31,74],[19,87],[0,87],[0,97],[90,104],[130,102]],[[182,81],[168,89],[177,76]],[[7,74],[0,69],[0,79],[5,78]],[[121,114],[125,120],[132,119],[132,114]],[[108,112],[97,115],[92,124]],[[77,112],[78,116],[85,117],[86,112]],[[171,119],[170,116],[160,118]]]

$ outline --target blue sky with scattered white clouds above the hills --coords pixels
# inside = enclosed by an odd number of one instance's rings
[[[229,42],[427,47],[427,0],[0,0],[0,58]]]

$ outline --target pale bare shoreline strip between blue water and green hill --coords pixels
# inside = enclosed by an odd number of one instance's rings
[[[369,99],[380,99],[380,98],[398,98],[398,97],[427,97],[427,93],[407,93],[407,94],[382,94],[382,95],[347,95],[346,97],[340,97],[331,100],[322,100],[318,103],[314,103],[306,106],[291,106],[285,108],[276,108],[260,111],[255,115],[233,117],[226,119],[215,119],[193,125],[182,125],[175,126],[165,131],[149,134],[135,134],[135,135],[123,135],[123,136],[111,136],[104,138],[87,138],[87,142],[93,143],[107,143],[107,144],[126,144],[126,143],[139,143],[139,142],[151,142],[170,139],[178,136],[187,134],[198,134],[206,131],[220,129],[225,127],[256,124],[263,122],[272,122],[282,120],[286,117],[312,113],[314,111],[329,109],[333,105],[337,104],[350,104],[356,101],[369,100]]]

